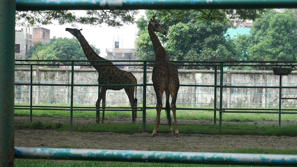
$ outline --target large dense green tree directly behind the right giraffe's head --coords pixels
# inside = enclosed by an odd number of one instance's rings
[[[184,18],[173,17],[182,13]],[[186,12],[185,12],[186,11]],[[209,20],[201,19],[201,11],[204,10],[170,10],[163,13],[165,16],[157,12],[156,19],[161,20],[160,24],[166,29],[168,35],[165,37],[160,33],[161,43],[165,47],[170,60],[178,61],[222,61],[222,60],[239,60],[241,57],[240,50],[235,47],[230,37],[224,34],[231,27],[227,19]],[[156,15],[154,11],[146,11],[146,18],[149,20],[151,16]],[[162,16],[162,17],[161,17]],[[171,17],[172,16],[172,17]],[[198,17],[199,16],[199,17]],[[224,16],[226,17],[226,15]],[[151,44],[151,40],[146,29],[148,20],[144,17],[137,20],[138,40],[134,55],[139,60],[154,60],[155,54]],[[163,20],[163,21],[162,21]],[[223,20],[223,21],[221,21]],[[210,69],[211,67],[201,67]]]

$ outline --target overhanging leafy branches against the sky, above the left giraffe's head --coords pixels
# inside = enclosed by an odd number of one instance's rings
[[[76,16],[68,10],[40,10],[16,11],[16,25],[40,26],[48,24],[88,24],[100,26],[105,23],[112,27],[121,27],[124,24],[134,23],[138,10],[86,10],[86,15]]]

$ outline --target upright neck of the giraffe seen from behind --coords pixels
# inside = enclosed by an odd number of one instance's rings
[[[149,31],[149,36],[151,38],[151,42],[153,43],[154,51],[155,51],[155,54],[156,54],[155,62],[159,61],[161,59],[164,59],[164,58],[169,59],[164,47],[162,46],[162,44],[161,44],[161,42],[159,40],[159,38],[155,34],[153,26],[151,25],[151,23],[149,23],[148,31]]]

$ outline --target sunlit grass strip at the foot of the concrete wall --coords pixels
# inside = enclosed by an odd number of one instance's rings
[[[49,107],[61,107],[61,110],[50,110]],[[70,117],[70,111],[65,111],[65,108],[69,107],[69,104],[51,104],[50,106],[44,105],[48,110],[33,110],[33,117]],[[95,118],[96,112],[94,106],[86,105],[75,105],[75,107],[80,107],[86,110],[75,110],[73,111],[74,118]],[[127,109],[127,106],[118,106]],[[140,105],[138,107],[141,107]],[[129,107],[128,107],[129,108]],[[59,109],[59,108],[55,108]],[[205,109],[205,110],[203,110]],[[213,120],[214,111],[208,110],[210,108],[200,108],[200,110],[177,110],[176,117],[178,119],[187,120]],[[273,110],[271,110],[273,111]],[[274,111],[275,112],[275,111]],[[285,111],[284,112],[294,112]],[[172,115],[172,112],[171,112]],[[216,112],[217,121],[219,120],[219,112]],[[25,109],[15,109],[15,116],[30,116],[30,110]],[[100,117],[102,117],[102,112],[100,112]],[[105,111],[105,118],[115,118],[115,117],[132,117],[132,112],[130,111]],[[142,112],[138,112],[138,117],[142,117]],[[166,113],[162,110],[161,119],[166,119]],[[147,109],[146,118],[155,119],[156,109]],[[235,122],[248,122],[248,121],[277,121],[279,114],[265,114],[265,113],[222,113],[223,121],[235,121]],[[282,120],[297,121],[297,117],[292,117],[292,114],[282,114]]]

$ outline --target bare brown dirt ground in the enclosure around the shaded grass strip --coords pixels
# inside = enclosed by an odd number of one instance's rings
[[[183,152],[213,152],[220,149],[239,148],[275,148],[297,149],[297,136],[252,136],[252,135],[217,135],[180,133],[180,137],[159,133],[151,137],[151,133],[91,133],[91,132],[54,132],[32,130],[20,125],[29,122],[30,117],[15,117],[15,147],[48,147],[48,148],[79,148],[79,149],[120,149],[120,150],[165,150]],[[33,121],[70,121],[69,118],[33,117]],[[106,119],[108,122],[130,122],[130,118]],[[166,120],[162,120],[166,122]],[[161,123],[162,123],[161,121]],[[211,124],[212,121],[178,120],[178,123]],[[73,123],[92,124],[94,118],[73,118]],[[141,118],[137,122],[142,122]],[[154,120],[147,120],[154,123]],[[251,124],[265,125],[278,122],[261,121]],[[282,122],[282,125],[297,124]]]

